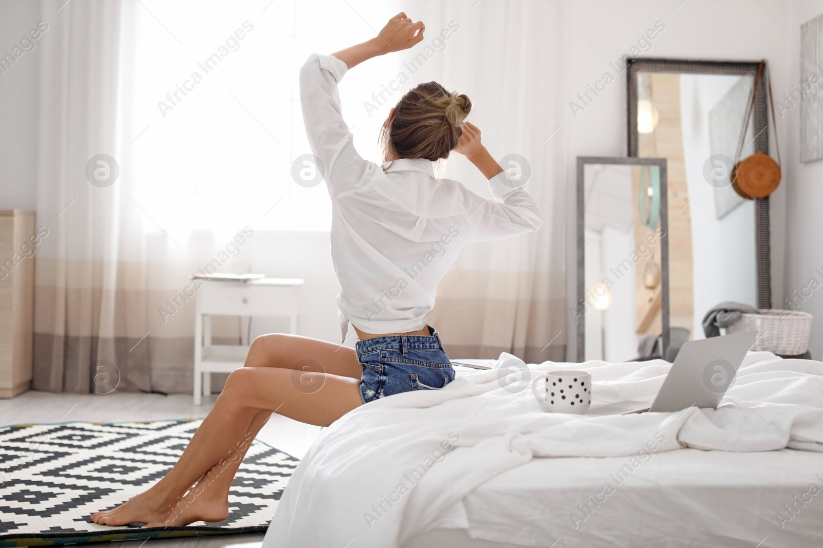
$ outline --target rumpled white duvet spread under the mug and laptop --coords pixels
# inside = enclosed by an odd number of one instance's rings
[[[525,366],[501,354],[497,366],[439,391],[377,400],[334,422],[291,477],[264,546],[400,546],[434,528],[472,490],[532,458],[634,456],[640,463],[682,448],[823,452],[821,361],[750,352],[717,410],[600,417],[542,411],[521,377],[590,371],[596,407],[650,401],[670,364]]]

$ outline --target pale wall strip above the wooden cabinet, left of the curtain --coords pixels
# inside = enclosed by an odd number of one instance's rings
[[[39,2],[2,2],[0,57],[12,53],[40,21]],[[0,74],[0,210],[34,210],[37,202],[37,127],[43,116],[26,97],[37,99],[40,83],[40,42]]]

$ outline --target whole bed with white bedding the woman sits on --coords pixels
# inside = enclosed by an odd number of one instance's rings
[[[513,360],[342,417],[264,546],[823,546],[823,363],[750,352],[716,411],[574,417],[528,377],[591,371],[597,407],[653,398],[669,365]]]

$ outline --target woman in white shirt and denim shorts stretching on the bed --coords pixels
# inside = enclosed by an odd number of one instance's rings
[[[141,495],[93,514],[95,523],[221,521],[239,463],[272,412],[328,426],[375,398],[441,389],[454,379],[438,334],[425,323],[437,283],[467,242],[536,230],[542,219],[528,192],[505,178],[481,144],[480,130],[463,122],[472,108],[468,97],[436,82],[416,86],[389,112],[381,133],[386,163],[357,154],[337,83],[360,62],[418,44],[424,30],[400,13],[376,38],[332,56],[312,55],[300,71],[306,132],[332,196],[342,336],[351,322],[356,351],[296,335],[255,339],[177,464]],[[431,163],[452,150],[490,180],[495,200],[434,177]]]

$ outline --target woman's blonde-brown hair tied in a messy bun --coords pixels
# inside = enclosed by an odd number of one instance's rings
[[[450,93],[437,82],[417,85],[402,96],[380,131],[385,158],[448,158],[471,110],[464,94]]]

